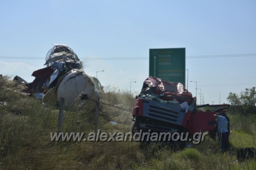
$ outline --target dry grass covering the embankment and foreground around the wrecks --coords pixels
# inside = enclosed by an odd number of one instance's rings
[[[7,102],[0,105],[0,169],[256,169],[255,160],[232,163],[239,147],[255,145],[253,126],[233,116],[232,148],[224,154],[208,137],[185,150],[157,143],[140,147],[138,142],[51,142],[50,132],[57,131],[58,107],[10,90],[22,87],[7,80],[0,78],[0,101]],[[109,91],[102,95],[104,101],[132,109],[135,99],[129,92]],[[100,129],[104,132],[131,132],[131,119],[131,113],[101,106]],[[247,121],[255,123],[255,119],[243,118]],[[93,130],[94,112],[64,112],[64,132],[88,134]]]

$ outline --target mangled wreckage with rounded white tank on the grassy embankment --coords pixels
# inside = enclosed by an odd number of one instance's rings
[[[64,44],[53,45],[46,55],[44,65],[47,67],[33,72],[33,82],[28,83],[19,76],[15,76],[13,80],[27,86],[25,93],[46,103],[59,102],[62,97],[65,98],[65,109],[94,107],[95,102],[83,100],[99,99],[92,77],[85,74],[81,61],[71,48]]]

